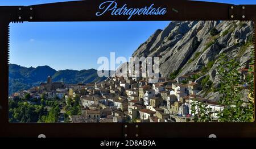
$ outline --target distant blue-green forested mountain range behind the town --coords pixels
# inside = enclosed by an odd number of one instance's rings
[[[106,79],[106,77],[98,77],[96,69],[56,71],[47,65],[26,68],[9,64],[9,94],[37,86],[40,82],[46,82],[48,76],[52,77],[52,81],[65,84],[89,83]]]

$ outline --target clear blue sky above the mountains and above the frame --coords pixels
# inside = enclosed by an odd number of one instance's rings
[[[0,6],[36,5],[65,0],[6,0]],[[71,1],[71,0],[69,0]],[[210,1],[210,0],[209,0]],[[210,1],[256,4],[256,1]],[[10,24],[10,63],[24,67],[97,69],[100,56],[129,56],[158,28],[170,22],[48,22]],[[40,30],[39,30],[40,28]]]

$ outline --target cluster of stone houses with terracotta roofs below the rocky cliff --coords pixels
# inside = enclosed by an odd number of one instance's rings
[[[195,99],[207,104],[213,112],[224,108],[197,95],[201,85],[189,80],[195,74],[176,80],[160,77],[154,84],[148,83],[147,78],[116,76],[97,83],[64,84],[52,82],[49,76],[40,86],[14,93],[10,98],[30,94],[30,98],[41,100],[43,94],[45,100],[57,97],[66,104],[70,99],[79,98],[80,114],[68,115],[69,122],[189,122],[193,121],[191,102]],[[59,122],[64,122],[65,112],[61,109]]]

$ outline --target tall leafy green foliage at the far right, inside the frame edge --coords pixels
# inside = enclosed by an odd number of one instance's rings
[[[238,69],[241,68],[235,59],[221,55],[217,67],[220,78],[219,92],[222,94],[220,104],[224,110],[218,113],[221,122],[253,122],[253,102],[242,100],[243,82]]]

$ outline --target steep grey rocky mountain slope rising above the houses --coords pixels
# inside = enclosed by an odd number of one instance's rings
[[[248,67],[253,48],[253,22],[186,21],[171,22],[153,35],[133,53],[137,57],[160,58],[159,71],[163,77],[177,78],[200,72],[196,82],[205,77],[217,87],[217,60],[221,53]],[[206,96],[215,99],[213,93]]]

